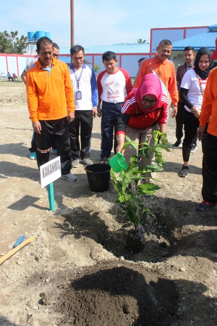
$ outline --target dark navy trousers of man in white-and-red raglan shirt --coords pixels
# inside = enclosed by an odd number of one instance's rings
[[[117,122],[118,114],[121,111],[120,103],[109,103],[103,101],[102,103],[102,120],[101,120],[101,157],[109,157],[113,147],[114,126]],[[114,153],[116,153],[117,140],[114,137]]]

